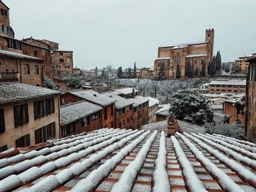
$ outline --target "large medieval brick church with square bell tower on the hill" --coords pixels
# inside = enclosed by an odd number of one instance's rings
[[[206,29],[203,42],[162,45],[154,61],[156,79],[205,77],[214,54],[214,29]]]

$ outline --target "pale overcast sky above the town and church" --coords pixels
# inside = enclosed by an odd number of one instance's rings
[[[255,0],[3,0],[15,37],[59,42],[82,69],[153,66],[157,47],[215,29],[223,61],[256,53]]]

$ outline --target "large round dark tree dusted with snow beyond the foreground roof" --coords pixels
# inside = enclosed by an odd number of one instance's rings
[[[206,99],[193,91],[180,90],[170,99],[170,112],[178,120],[203,125],[211,123],[214,113],[208,107]]]

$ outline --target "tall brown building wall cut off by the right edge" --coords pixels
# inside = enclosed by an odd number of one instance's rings
[[[246,81],[246,137],[256,139],[256,57],[249,59]]]

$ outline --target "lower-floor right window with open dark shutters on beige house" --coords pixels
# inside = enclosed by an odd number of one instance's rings
[[[56,123],[50,123],[47,126],[38,128],[34,131],[35,142],[47,142],[48,139],[56,138]]]

